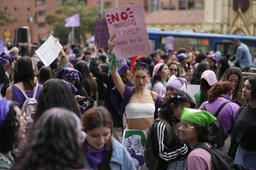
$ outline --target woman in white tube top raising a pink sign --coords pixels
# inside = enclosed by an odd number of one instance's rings
[[[108,41],[108,58],[114,60],[114,66],[110,65],[111,74],[115,87],[111,90],[111,100],[114,107],[118,110],[123,107],[127,117],[126,129],[132,130],[148,130],[157,118],[157,109],[161,106],[163,98],[157,93],[149,91],[145,88],[149,79],[148,66],[151,64],[149,57],[140,57],[136,59],[133,66],[131,78],[135,86],[129,87],[125,85],[116,71],[116,65],[113,53],[115,35]],[[111,61],[112,62],[112,61]]]

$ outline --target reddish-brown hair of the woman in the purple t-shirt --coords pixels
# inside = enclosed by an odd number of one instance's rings
[[[215,83],[212,88],[209,90],[208,102],[211,103],[221,94],[227,94],[230,90],[234,90],[234,87],[231,83],[225,81],[221,83]]]

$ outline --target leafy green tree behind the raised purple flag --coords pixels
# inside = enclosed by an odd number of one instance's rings
[[[109,8],[109,6],[105,6],[105,8]],[[65,27],[66,29],[65,28],[60,29],[62,26],[64,27],[65,25],[65,18],[79,13],[81,25],[79,27],[75,27],[75,37],[79,37],[79,35],[84,35],[87,32],[90,32],[92,35],[94,35],[95,21],[99,19],[98,11],[99,11],[98,6],[89,8],[85,5],[84,1],[66,0],[64,2],[64,5],[55,9],[56,15],[47,14],[45,16],[45,21],[47,24],[53,25],[53,31],[55,36],[58,35],[58,37],[61,38],[61,37],[67,36],[67,35],[64,35],[66,34],[66,31],[63,32],[63,30],[67,29],[71,31],[71,28],[66,28],[66,27]],[[75,40],[78,40],[78,39],[75,39]]]

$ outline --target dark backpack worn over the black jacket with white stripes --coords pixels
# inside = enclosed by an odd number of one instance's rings
[[[147,138],[145,142],[145,150],[144,150],[144,161],[149,170],[155,170],[158,165],[158,159],[156,154],[158,151],[154,151],[154,146],[152,146],[152,141],[154,140],[153,136],[153,129],[155,122],[162,121],[165,124],[165,128],[167,131],[167,145],[172,145],[172,127],[170,126],[169,122],[162,118],[157,118],[154,123],[149,127],[147,131]]]

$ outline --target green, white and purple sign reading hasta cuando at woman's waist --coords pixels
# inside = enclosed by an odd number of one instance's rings
[[[122,144],[131,155],[134,165],[146,165],[144,150],[147,131],[124,130]]]

